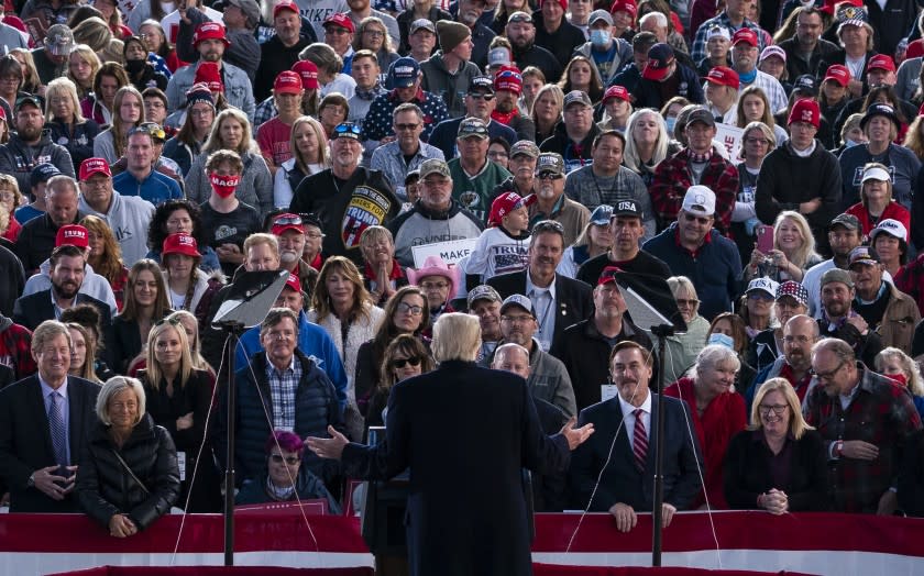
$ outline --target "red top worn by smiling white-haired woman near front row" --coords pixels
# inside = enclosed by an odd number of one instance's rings
[[[722,469],[732,436],[744,430],[747,423],[744,398],[737,392],[723,392],[713,398],[706,410],[700,414],[696,411],[696,392],[693,390],[692,378],[681,378],[673,383],[664,389],[664,396],[680,398],[690,406],[693,428],[700,439],[706,466],[703,470],[703,487],[708,496],[710,506],[719,510],[727,509]],[[701,494],[692,508],[698,508],[704,501]]]

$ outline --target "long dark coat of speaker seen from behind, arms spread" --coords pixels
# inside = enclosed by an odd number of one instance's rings
[[[377,446],[349,444],[342,462],[370,480],[410,468],[411,575],[532,574],[521,469],[561,473],[571,454],[540,428],[526,380],[442,362],[392,388],[385,430]]]

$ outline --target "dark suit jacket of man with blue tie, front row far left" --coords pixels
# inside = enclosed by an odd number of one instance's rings
[[[90,428],[96,422],[99,386],[67,377],[70,463],[77,464]],[[11,512],[77,512],[72,495],[52,500],[36,488],[28,488],[29,477],[38,468],[55,465],[52,433],[38,375],[0,390],[0,478],[10,490]],[[77,474],[77,479],[84,473]]]

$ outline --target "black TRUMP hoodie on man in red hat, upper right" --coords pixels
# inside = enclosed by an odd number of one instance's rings
[[[755,209],[761,222],[772,223],[783,210],[798,212],[800,203],[820,198],[822,206],[803,215],[815,239],[826,237],[827,225],[837,214],[840,195],[840,169],[834,154],[816,140],[814,152],[802,158],[787,143],[763,158],[757,177]]]

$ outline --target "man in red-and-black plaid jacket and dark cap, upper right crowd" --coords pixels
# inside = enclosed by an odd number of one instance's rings
[[[686,120],[690,145],[658,165],[651,181],[651,206],[658,230],[676,221],[686,190],[701,185],[715,192],[715,228],[728,234],[738,193],[738,169],[713,148],[715,119],[706,109],[694,110]]]

